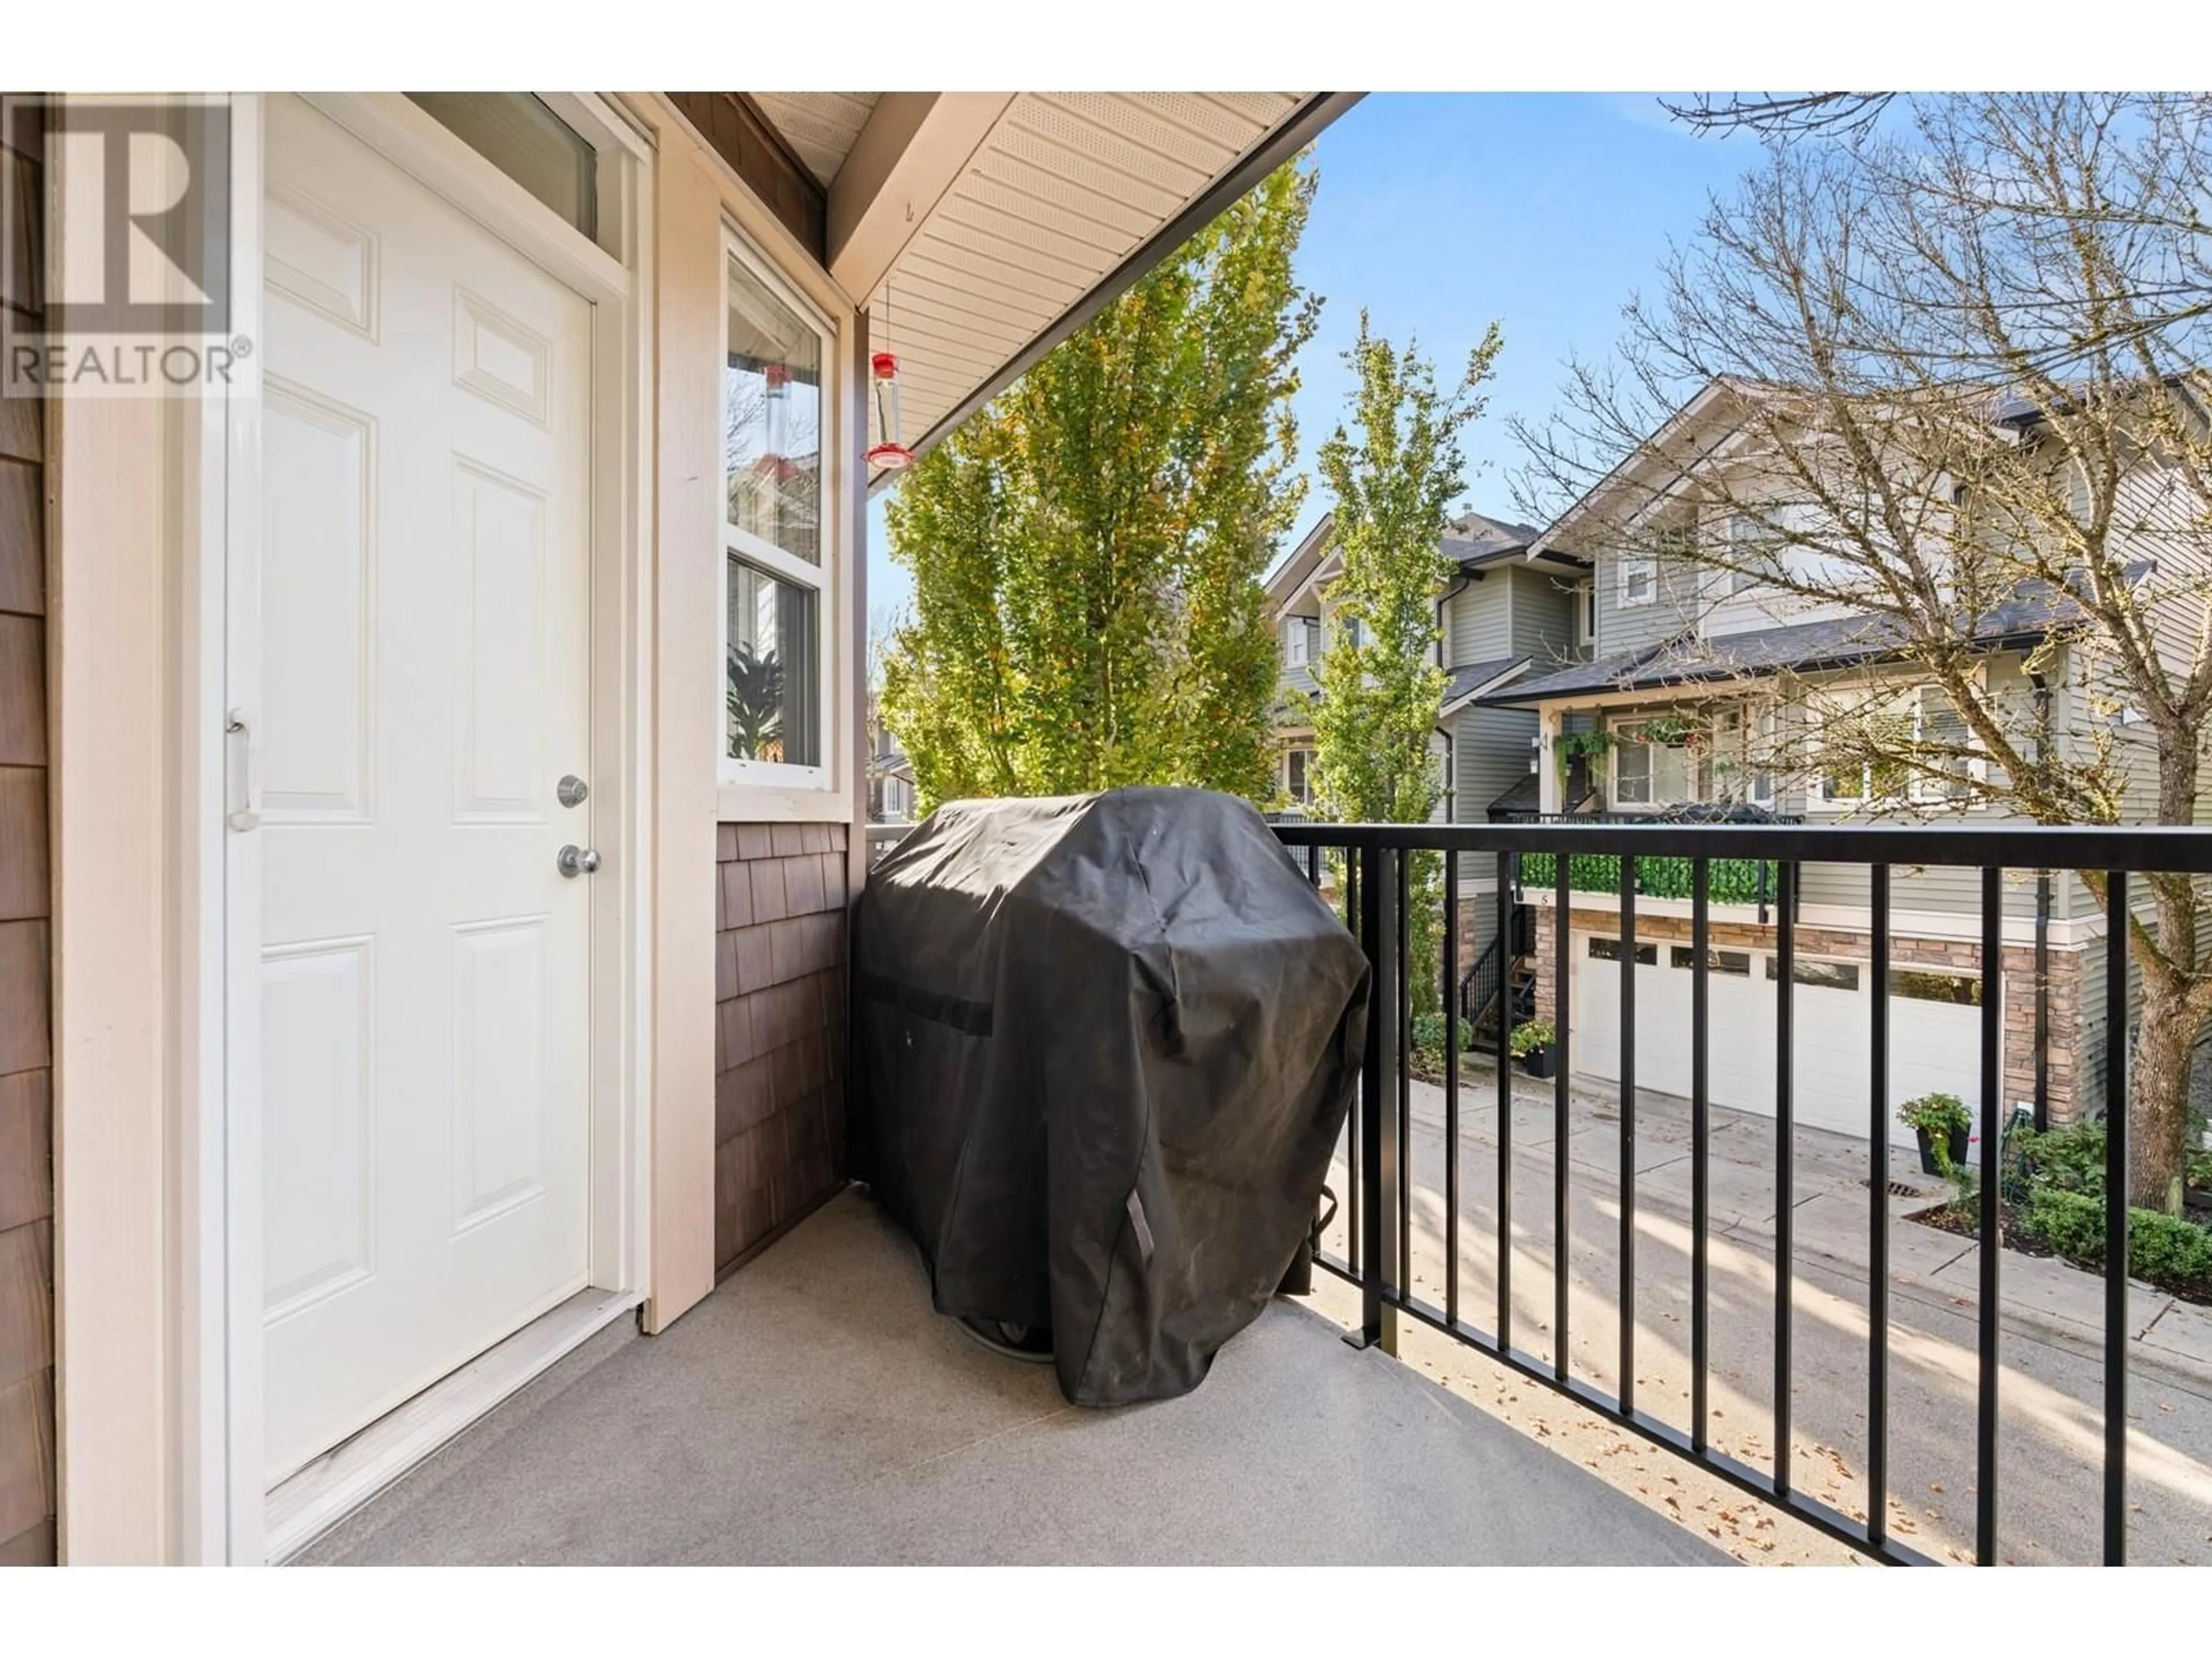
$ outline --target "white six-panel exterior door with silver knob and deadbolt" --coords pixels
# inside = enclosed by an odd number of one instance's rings
[[[265,188],[274,1482],[586,1285],[593,307],[292,97]]]

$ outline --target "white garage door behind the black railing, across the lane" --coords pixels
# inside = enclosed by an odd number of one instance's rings
[[[1690,1095],[1690,947],[1670,940],[1637,945],[1637,1088]],[[1575,936],[1575,1073],[1604,1082],[1621,1075],[1621,942]],[[1889,1139],[1911,1146],[1896,1104],[1944,1091],[1980,1110],[1980,980],[1924,969],[1889,971]],[[1708,1088],[1717,1106],[1774,1113],[1774,956],[1714,949],[1710,987]],[[1792,1097],[1796,1121],[1838,1135],[1869,1128],[1869,998],[1865,962],[1798,956],[1796,1055]]]

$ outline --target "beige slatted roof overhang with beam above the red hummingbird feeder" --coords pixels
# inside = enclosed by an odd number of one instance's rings
[[[916,456],[1358,100],[752,95],[827,188],[827,268],[867,310],[869,349],[898,356],[900,425]]]

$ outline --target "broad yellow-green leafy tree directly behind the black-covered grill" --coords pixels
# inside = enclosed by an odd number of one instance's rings
[[[1261,577],[1296,518],[1292,257],[1314,170],[1279,168],[900,484],[914,615],[883,706],[925,805],[1272,787]]]

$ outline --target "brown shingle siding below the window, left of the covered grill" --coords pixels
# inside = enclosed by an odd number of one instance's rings
[[[841,823],[721,825],[714,933],[714,1265],[845,1168]]]

